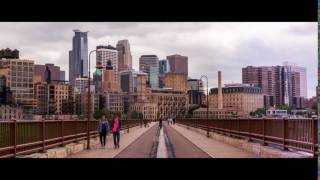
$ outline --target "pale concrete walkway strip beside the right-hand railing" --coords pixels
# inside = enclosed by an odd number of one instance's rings
[[[176,132],[182,134],[197,147],[215,158],[257,158],[253,153],[241,150],[234,146],[216,141],[212,138],[207,138],[205,135],[189,130],[181,125],[170,126]]]

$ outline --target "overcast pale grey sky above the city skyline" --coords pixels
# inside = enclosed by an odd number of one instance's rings
[[[181,54],[189,57],[189,76],[209,77],[217,86],[217,71],[223,84],[241,83],[241,68],[282,65],[289,61],[307,68],[308,97],[316,95],[317,22],[308,23],[0,23],[0,48],[17,48],[20,58],[35,63],[54,63],[66,71],[73,29],[89,31],[89,51],[97,45],[113,45],[128,39],[133,67],[139,57],[155,54],[159,59]],[[92,58],[92,70],[95,57]]]

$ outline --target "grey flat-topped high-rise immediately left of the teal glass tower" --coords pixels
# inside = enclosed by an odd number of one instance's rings
[[[148,74],[148,86],[152,88],[159,87],[159,58],[156,55],[142,55],[139,58],[139,69]]]

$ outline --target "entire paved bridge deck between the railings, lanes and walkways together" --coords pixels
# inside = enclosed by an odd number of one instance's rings
[[[122,134],[119,149],[114,149],[113,139],[109,136],[106,148],[97,145],[68,158],[155,158],[157,151],[161,151],[158,152],[158,157],[164,157],[163,152],[165,152],[167,154],[165,157],[169,158],[256,157],[252,153],[207,138],[185,127],[163,122],[162,130],[159,130],[158,123],[152,123],[150,127],[138,128]]]

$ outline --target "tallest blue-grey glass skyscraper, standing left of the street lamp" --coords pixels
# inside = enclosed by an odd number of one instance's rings
[[[69,81],[72,85],[77,77],[88,77],[88,32],[74,30],[72,50],[69,51]]]

